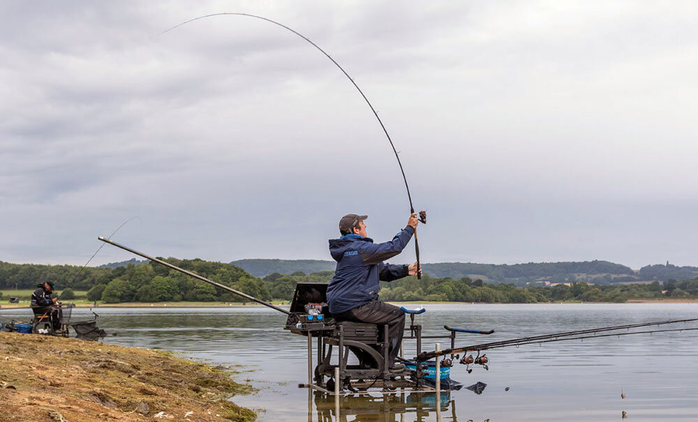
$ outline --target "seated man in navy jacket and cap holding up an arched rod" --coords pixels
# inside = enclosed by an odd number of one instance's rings
[[[327,304],[337,321],[388,324],[390,368],[401,370],[404,366],[394,362],[405,331],[405,314],[400,308],[378,300],[378,281],[417,275],[416,262],[394,265],[383,261],[402,252],[415,234],[419,220],[413,213],[407,226],[392,241],[373,243],[373,239],[366,236],[366,218],[369,217],[357,214],[343,216],[339,220],[342,236],[329,241],[329,252],[337,262],[337,268],[327,286]]]

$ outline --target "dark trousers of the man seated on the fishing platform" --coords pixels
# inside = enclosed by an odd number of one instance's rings
[[[358,308],[350,309],[341,314],[334,315],[337,321],[366,322],[367,324],[378,324],[380,332],[383,333],[383,325],[388,325],[388,357],[390,362],[394,362],[400,352],[402,336],[405,333],[405,312],[397,306],[389,305],[382,301],[373,301]],[[383,338],[383,337],[381,337]],[[359,356],[359,360],[361,356]]]

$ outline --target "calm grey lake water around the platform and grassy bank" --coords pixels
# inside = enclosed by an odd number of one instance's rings
[[[696,304],[429,305],[417,320],[424,335],[446,333],[444,324],[495,329],[491,336],[464,334],[456,344],[698,317]],[[248,368],[260,391],[233,399],[260,410],[262,421],[436,421],[436,397],[380,395],[334,400],[309,395],[306,338],[283,330],[285,315],[262,307],[98,308],[103,341],[182,352],[215,365]],[[87,310],[74,310],[74,315]],[[0,316],[28,315],[3,310]],[[698,326],[698,324],[695,324]],[[117,336],[112,336],[117,334]],[[425,340],[436,341],[436,340]],[[448,340],[441,340],[447,345]],[[424,348],[427,349],[426,343]],[[429,347],[431,349],[433,347]],[[415,344],[406,343],[406,356]],[[487,352],[489,371],[451,377],[464,386],[487,384],[482,394],[461,389],[440,398],[442,421],[698,420],[698,331],[599,338],[528,345]],[[505,387],[509,387],[505,391]],[[627,398],[621,399],[621,389]]]

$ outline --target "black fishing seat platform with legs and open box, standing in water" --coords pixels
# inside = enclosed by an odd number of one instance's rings
[[[415,317],[426,312],[419,308],[401,310],[410,316],[410,325],[405,329],[399,362],[403,370],[389,368],[388,329],[377,324],[362,322],[336,322],[327,307],[327,284],[301,282],[296,286],[286,319],[285,329],[308,339],[308,382],[300,388],[311,388],[329,395],[355,395],[363,393],[438,392],[460,389],[462,384],[450,379],[450,359],[416,361],[404,359],[406,340],[416,343],[416,354],[422,354],[424,340],[450,340],[455,347],[456,333],[480,332],[452,329],[445,326],[447,335],[424,336],[422,325]],[[314,350],[313,350],[314,348]],[[438,343],[437,343],[438,349]],[[350,361],[350,353],[358,359]],[[315,365],[313,366],[313,356]],[[359,357],[360,356],[360,357]]]

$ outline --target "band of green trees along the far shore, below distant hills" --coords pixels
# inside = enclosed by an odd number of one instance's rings
[[[329,282],[334,271],[306,274],[272,273],[264,278],[251,276],[232,264],[202,259],[165,259],[183,269],[232,287],[265,301],[289,301],[298,282]],[[122,302],[242,302],[245,299],[179,271],[145,262],[117,268],[9,264],[0,262],[0,289],[31,289],[51,280],[63,290],[63,299],[72,299],[75,290],[87,290],[87,299],[105,303]],[[1,294],[1,293],[0,293]],[[698,279],[668,280],[650,284],[595,285],[570,282],[554,287],[512,283],[490,284],[468,277],[432,277],[424,274],[394,282],[381,282],[380,299],[385,301],[443,301],[482,303],[537,303],[552,301],[624,302],[631,298],[685,298],[698,296]]]

